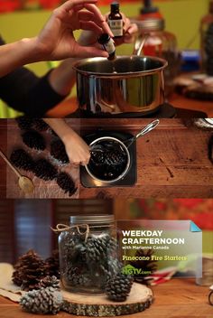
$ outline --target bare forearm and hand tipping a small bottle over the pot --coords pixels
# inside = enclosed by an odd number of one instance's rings
[[[80,46],[73,35],[75,30],[86,29],[96,33],[105,31],[113,36],[96,3],[97,0],[66,1],[53,11],[38,36],[2,46],[0,48],[0,77],[34,61],[107,56],[106,51],[95,46]]]

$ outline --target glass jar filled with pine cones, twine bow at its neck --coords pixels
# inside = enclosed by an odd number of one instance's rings
[[[60,280],[78,293],[103,293],[119,267],[113,215],[76,215],[59,237]]]

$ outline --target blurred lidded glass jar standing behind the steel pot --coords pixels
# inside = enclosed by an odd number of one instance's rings
[[[143,52],[147,56],[156,56],[168,61],[168,67],[164,70],[165,96],[169,96],[173,91],[173,79],[178,75],[181,66],[181,53],[178,51],[177,40],[174,34],[164,30],[165,23],[161,18],[147,18],[144,20],[134,20],[139,29],[139,37],[146,35]],[[134,45],[134,54],[137,53]]]

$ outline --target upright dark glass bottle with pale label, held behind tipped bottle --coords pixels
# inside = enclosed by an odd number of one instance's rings
[[[111,4],[111,12],[108,15],[108,25],[115,38],[123,36],[123,18],[119,12],[119,4],[116,2]]]

